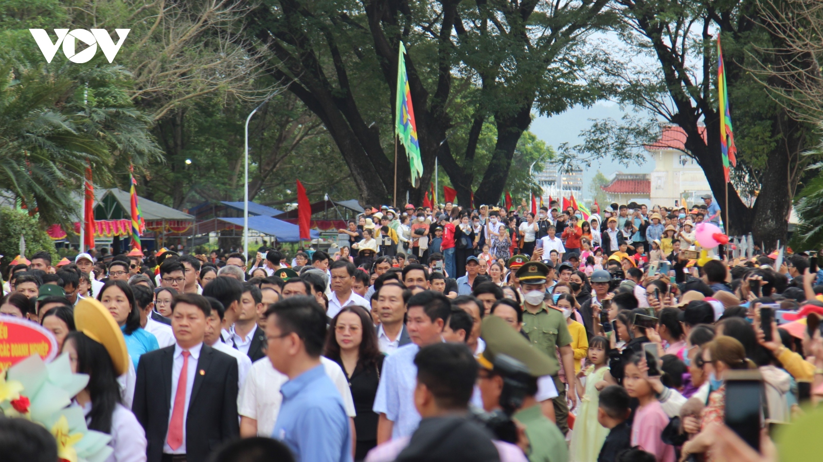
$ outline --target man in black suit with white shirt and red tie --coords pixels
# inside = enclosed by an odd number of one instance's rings
[[[211,304],[182,293],[171,304],[176,344],[143,354],[132,411],[148,462],[203,462],[239,437],[237,361],[203,344]]]

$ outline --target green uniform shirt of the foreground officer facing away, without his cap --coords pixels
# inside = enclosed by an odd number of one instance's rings
[[[540,404],[521,409],[512,416],[526,427],[526,436],[530,443],[526,452],[529,462],[566,462],[569,460],[569,448],[565,437],[554,423],[540,409]]]

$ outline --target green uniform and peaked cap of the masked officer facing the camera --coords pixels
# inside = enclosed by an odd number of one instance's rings
[[[539,261],[529,261],[517,271],[520,284],[545,283],[548,274],[548,266]],[[555,370],[560,371],[557,349],[571,344],[572,341],[563,313],[546,307],[546,303],[541,303],[537,312],[533,313],[523,307],[523,333],[528,335],[533,346],[551,358]],[[557,426],[565,434],[569,432],[569,405],[566,404],[565,384],[560,381],[557,372],[551,374],[551,377],[557,387],[557,397],[554,399]]]

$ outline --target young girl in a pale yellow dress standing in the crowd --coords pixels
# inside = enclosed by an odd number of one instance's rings
[[[607,381],[614,384],[614,379],[609,375],[608,354],[609,341],[606,337],[597,335],[588,342],[588,367],[579,372],[577,377],[585,377],[585,385],[582,380],[576,381],[577,395],[580,400],[580,408],[577,411],[577,418],[574,421],[574,432],[571,435],[570,461],[571,462],[597,462],[597,455],[603,441],[606,440],[608,429],[603,427],[597,419],[597,400],[603,384],[600,381]],[[611,381],[610,381],[611,379]]]

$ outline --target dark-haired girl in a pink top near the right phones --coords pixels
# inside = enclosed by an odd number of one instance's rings
[[[623,372],[626,392],[637,398],[640,404],[635,411],[635,421],[631,424],[631,446],[640,446],[653,454],[658,462],[674,462],[674,446],[667,445],[660,438],[669,418],[649,384],[647,372],[643,354],[632,356]]]

